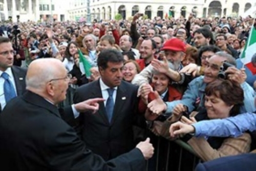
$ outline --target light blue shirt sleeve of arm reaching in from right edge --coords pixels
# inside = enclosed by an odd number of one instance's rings
[[[238,137],[247,130],[256,130],[256,114],[244,113],[225,119],[200,121],[193,126],[197,137]]]

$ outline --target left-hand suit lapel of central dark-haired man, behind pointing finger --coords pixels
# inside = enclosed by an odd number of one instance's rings
[[[100,84],[99,84],[99,80],[95,81],[96,85],[93,86],[94,89],[92,90],[92,95],[93,97],[102,97],[102,93],[101,93],[101,88],[100,88]],[[100,115],[100,117],[102,118],[102,120],[106,123],[109,124],[109,120],[108,120],[108,116],[106,115],[106,109],[105,109],[105,105],[104,102],[99,102],[99,110],[98,113]]]

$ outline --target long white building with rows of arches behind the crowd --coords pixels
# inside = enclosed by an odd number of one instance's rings
[[[74,0],[70,4],[71,20],[86,19],[87,0]],[[80,5],[82,4],[82,5]],[[135,13],[146,14],[148,18],[162,18],[181,15],[187,17],[194,13],[197,17],[240,16],[248,9],[256,6],[256,0],[91,0],[90,11],[92,19],[114,19],[116,14],[129,18]]]

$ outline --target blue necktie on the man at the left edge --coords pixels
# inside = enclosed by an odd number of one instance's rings
[[[7,103],[9,100],[16,97],[16,93],[15,93],[13,84],[9,79],[9,75],[7,73],[3,72],[1,77],[3,77],[5,79],[4,94],[5,94],[5,102]]]

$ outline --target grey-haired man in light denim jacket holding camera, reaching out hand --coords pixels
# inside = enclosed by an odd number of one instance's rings
[[[180,114],[185,111],[200,111],[200,109],[205,108],[205,87],[218,78],[224,61],[236,66],[236,61],[231,55],[225,52],[217,52],[208,59],[204,76],[197,77],[188,84],[181,100],[164,103],[161,99],[155,99],[148,104],[148,108],[156,114],[171,112]],[[240,112],[253,112],[255,110],[255,106],[252,103],[254,101],[254,90],[245,82],[246,75],[244,72],[236,67],[229,67],[225,74],[227,74],[227,79],[239,83],[244,91],[244,105],[241,107]],[[177,106],[180,103],[183,105]]]

